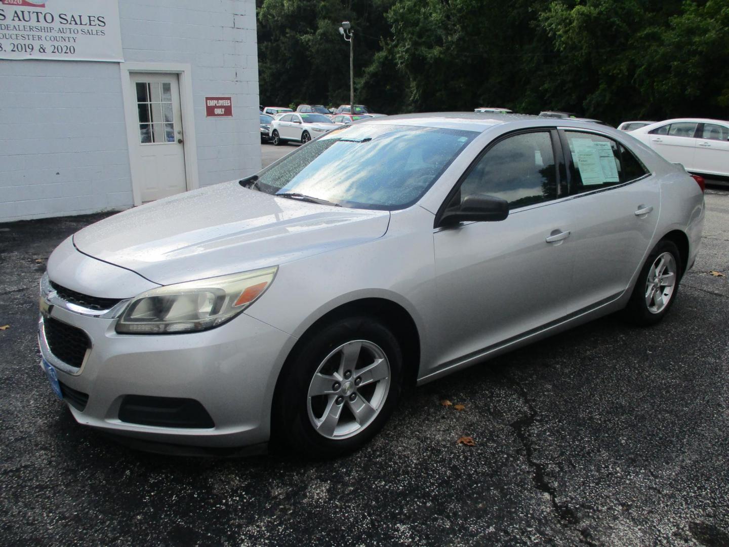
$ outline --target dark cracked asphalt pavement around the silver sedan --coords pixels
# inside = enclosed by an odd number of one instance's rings
[[[104,215],[0,225],[0,544],[728,546],[729,192],[706,204],[660,325],[606,317],[413,389],[320,462],[165,457],[76,424],[38,367],[37,282]]]

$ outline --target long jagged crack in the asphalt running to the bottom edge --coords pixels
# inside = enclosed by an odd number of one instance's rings
[[[555,489],[549,484],[549,481],[547,481],[547,470],[545,468],[545,465],[537,462],[537,460],[534,459],[534,446],[532,445],[531,439],[529,439],[529,435],[527,435],[526,431],[529,430],[529,427],[531,427],[534,422],[537,422],[539,411],[537,411],[537,408],[535,408],[534,404],[531,403],[526,389],[524,389],[523,385],[521,385],[518,380],[516,380],[504,371],[500,371],[500,374],[507,381],[507,383],[512,386],[515,392],[517,392],[521,400],[523,400],[523,403],[526,405],[526,408],[528,409],[528,412],[525,416],[522,416],[521,418],[516,419],[514,422],[511,422],[509,426],[512,428],[512,430],[514,430],[516,437],[519,439],[519,442],[524,447],[524,451],[526,453],[526,462],[534,470],[534,475],[532,476],[532,479],[534,480],[534,486],[537,488],[537,490],[539,490],[539,492],[544,492],[549,496],[552,509],[559,519],[559,523],[562,527],[569,528],[574,525],[580,524],[580,518],[577,516],[577,513],[575,513],[575,511],[569,506],[561,504],[557,501]],[[593,540],[593,535],[587,528],[583,527],[582,529],[575,529],[574,532],[580,533],[580,543],[589,546],[599,546],[599,543],[596,543],[596,541]]]

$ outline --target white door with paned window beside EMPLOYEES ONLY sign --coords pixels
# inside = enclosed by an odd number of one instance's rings
[[[187,190],[180,92],[177,74],[130,74],[136,100],[137,165],[134,184],[141,201]]]

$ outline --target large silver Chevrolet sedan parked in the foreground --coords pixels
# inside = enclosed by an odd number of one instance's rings
[[[615,311],[657,323],[703,218],[694,179],[623,131],[367,120],[63,241],[41,282],[42,367],[106,432],[334,456],[408,383]]]

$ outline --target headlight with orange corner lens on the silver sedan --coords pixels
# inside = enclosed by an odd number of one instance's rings
[[[254,303],[276,271],[278,266],[142,292],[117,322],[117,333],[192,333],[217,327]]]

